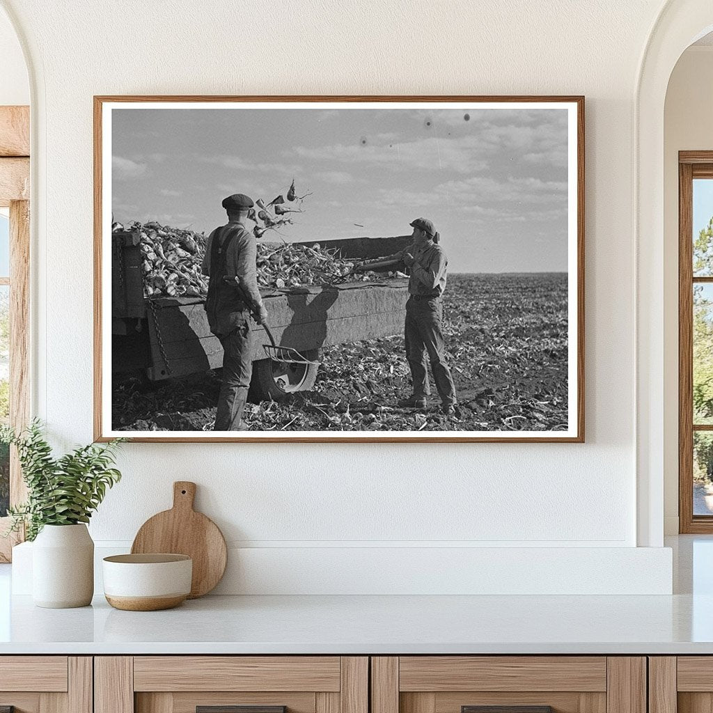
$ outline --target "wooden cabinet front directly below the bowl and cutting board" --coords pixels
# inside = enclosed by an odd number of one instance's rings
[[[96,657],[95,713],[368,713],[356,656]]]

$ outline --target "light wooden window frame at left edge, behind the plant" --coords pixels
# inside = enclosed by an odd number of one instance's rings
[[[14,429],[29,422],[30,290],[30,111],[28,106],[0,106],[0,207],[10,209],[10,414]],[[26,498],[17,453],[10,454],[10,504]],[[11,561],[12,547],[24,533],[1,537],[10,518],[0,518],[0,562]]]

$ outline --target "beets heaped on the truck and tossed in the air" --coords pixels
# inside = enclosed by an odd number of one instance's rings
[[[287,196],[289,200],[297,199],[296,205],[300,205],[304,198],[294,195],[294,181]],[[257,211],[252,209],[248,215],[255,222],[255,237],[260,238],[268,230],[291,223],[284,217],[287,212],[302,212],[301,208],[286,209],[282,207],[283,203],[282,195],[270,203],[257,200]],[[115,222],[112,230],[138,230],[140,233],[145,297],[205,297],[208,278],[201,272],[207,242],[205,233],[160,225],[155,221],[134,221],[126,225]],[[327,250],[319,245],[310,247],[284,240],[282,245],[257,243],[257,284],[260,287],[284,289],[302,284],[332,284],[349,275],[356,264],[354,260],[338,257],[337,250]],[[349,281],[366,282],[389,276],[393,275],[356,272],[349,275]]]

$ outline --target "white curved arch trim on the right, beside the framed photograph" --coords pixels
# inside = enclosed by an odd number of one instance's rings
[[[652,29],[635,89],[637,543],[641,546],[663,544],[665,442],[669,436],[665,421],[670,423],[665,416],[668,409],[677,409],[670,394],[665,398],[665,384],[670,384],[671,376],[665,364],[663,294],[665,98],[679,57],[711,29],[709,0],[671,0]]]

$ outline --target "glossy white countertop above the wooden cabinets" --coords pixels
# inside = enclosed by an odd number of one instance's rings
[[[164,612],[40,609],[0,565],[0,655],[713,654],[713,538],[669,544],[672,596],[215,596]]]

